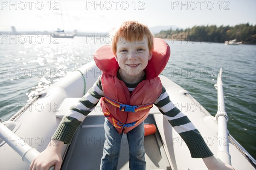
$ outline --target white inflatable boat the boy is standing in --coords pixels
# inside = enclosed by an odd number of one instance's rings
[[[8,121],[0,123],[0,169],[29,169],[35,156],[51,144],[51,136],[61,118],[93,86],[100,74],[95,62],[89,62],[39,93]],[[224,106],[221,74],[218,77],[215,88],[220,94],[218,102]],[[255,169],[256,160],[228,133],[224,110],[211,116],[188,91],[163,75],[160,79],[171,101],[188,116],[220,161],[231,164],[236,170]],[[98,103],[76,131],[72,143],[64,145],[62,170],[99,169],[105,141],[103,124],[104,116]],[[186,143],[155,106],[145,124],[157,127],[156,133],[145,136],[147,170],[207,169],[202,159],[191,158]],[[118,169],[129,169],[128,157],[128,142],[124,135]]]

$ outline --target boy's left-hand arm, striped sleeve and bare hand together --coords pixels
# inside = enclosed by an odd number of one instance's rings
[[[62,118],[60,125],[52,136],[47,148],[41,152],[31,163],[30,170],[45,170],[55,165],[55,170],[61,168],[61,149],[63,144],[70,144],[71,140],[84,118],[95,108],[99,99],[104,96],[101,86],[101,77],[89,89],[76,105]]]

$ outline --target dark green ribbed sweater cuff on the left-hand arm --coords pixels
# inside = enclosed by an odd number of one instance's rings
[[[75,132],[75,127],[60,124],[58,129],[53,134],[52,139],[62,141],[64,144],[71,144]]]

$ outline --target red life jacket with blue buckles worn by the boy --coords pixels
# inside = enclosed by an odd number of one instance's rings
[[[103,71],[101,81],[105,97],[101,99],[102,112],[119,133],[127,133],[147,118],[150,108],[162,92],[158,76],[169,57],[169,45],[162,39],[154,38],[153,55],[144,69],[146,79],[130,94],[125,83],[116,76],[119,65],[111,46],[104,45],[96,50],[94,60]]]

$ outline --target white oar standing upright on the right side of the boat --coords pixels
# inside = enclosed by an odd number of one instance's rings
[[[218,111],[215,115],[216,120],[218,121],[218,140],[220,143],[218,144],[218,152],[217,158],[222,162],[231,165],[231,156],[229,153],[229,140],[228,140],[228,130],[227,130],[227,121],[228,116],[225,110],[224,103],[224,94],[223,94],[223,84],[222,84],[222,68],[218,73],[217,84],[215,84],[215,88],[218,91]]]

